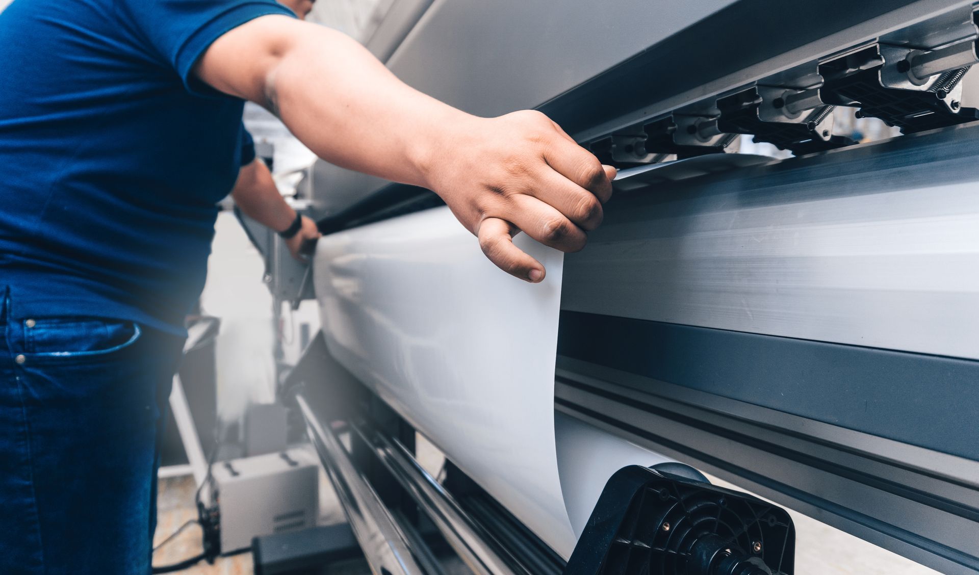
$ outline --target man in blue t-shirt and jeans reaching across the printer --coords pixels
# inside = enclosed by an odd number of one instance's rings
[[[14,0],[0,46],[2,573],[149,569],[162,406],[245,100],[328,161],[439,194],[529,282],[512,237],[581,249],[611,195],[614,169],[544,115],[455,110],[272,0]],[[317,237],[254,190],[250,216]]]

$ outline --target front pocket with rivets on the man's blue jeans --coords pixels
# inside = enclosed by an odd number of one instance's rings
[[[102,318],[50,318],[24,323],[25,351],[34,358],[101,356],[129,347],[141,335],[133,322]]]

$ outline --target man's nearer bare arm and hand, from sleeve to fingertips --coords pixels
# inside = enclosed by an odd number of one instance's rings
[[[245,23],[211,44],[196,73],[275,112],[332,163],[432,190],[489,259],[518,278],[538,282],[544,270],[513,245],[515,234],[577,251],[612,195],[615,169],[543,114],[458,111],[316,24],[283,16]]]

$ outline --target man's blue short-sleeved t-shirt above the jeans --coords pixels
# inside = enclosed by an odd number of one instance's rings
[[[183,332],[243,101],[192,68],[273,0],[15,0],[0,13],[0,296],[15,319]]]

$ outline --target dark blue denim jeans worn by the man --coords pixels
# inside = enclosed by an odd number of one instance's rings
[[[0,573],[148,573],[182,339],[9,308],[0,292]]]

